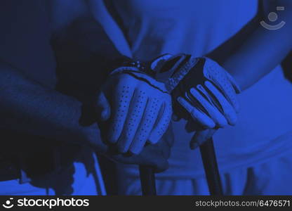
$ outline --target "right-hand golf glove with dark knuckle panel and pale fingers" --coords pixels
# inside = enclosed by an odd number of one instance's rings
[[[210,58],[166,54],[152,63],[157,79],[173,96],[175,114],[181,106],[206,127],[235,124],[239,86],[232,76]],[[178,103],[180,106],[178,106]]]

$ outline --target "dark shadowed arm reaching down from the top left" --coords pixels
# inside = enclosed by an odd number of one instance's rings
[[[57,61],[59,88],[81,101],[94,98],[112,70],[113,61],[124,58],[93,17],[89,2],[78,0],[72,6],[68,0],[61,5],[60,1],[51,1],[51,44]],[[76,8],[80,10],[77,12]]]

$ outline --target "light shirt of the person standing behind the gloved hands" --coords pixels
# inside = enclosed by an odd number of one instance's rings
[[[204,56],[239,32],[258,11],[256,0],[112,0],[112,3],[121,18],[119,27],[124,31],[128,49],[134,58],[142,60],[163,53]],[[292,127],[288,124],[292,120],[291,96],[291,82],[284,78],[280,66],[239,95],[241,112],[237,125],[220,129],[213,137],[221,170],[253,165],[291,147]],[[189,148],[193,133],[186,132],[185,123],[184,120],[173,123],[171,167],[157,177],[204,175],[199,150]],[[131,167],[126,171],[138,174]]]

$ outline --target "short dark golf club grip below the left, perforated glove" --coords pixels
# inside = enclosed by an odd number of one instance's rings
[[[142,196],[156,196],[156,183],[153,167],[139,165]]]

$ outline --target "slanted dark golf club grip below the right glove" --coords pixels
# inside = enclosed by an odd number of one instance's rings
[[[200,146],[200,151],[211,196],[223,196],[223,189],[213,146],[213,138],[203,143]]]

